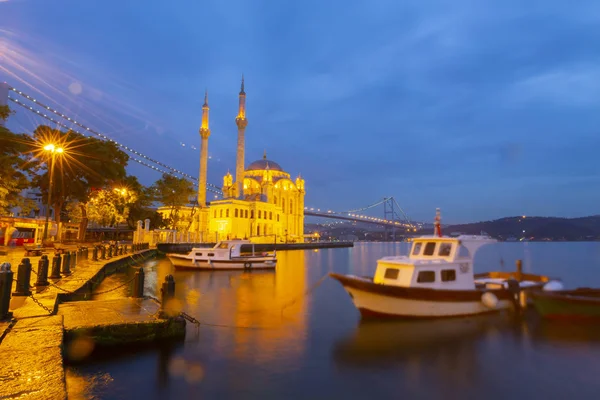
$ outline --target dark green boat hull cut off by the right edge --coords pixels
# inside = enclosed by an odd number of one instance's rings
[[[535,292],[530,295],[536,311],[546,319],[600,320],[600,290]]]

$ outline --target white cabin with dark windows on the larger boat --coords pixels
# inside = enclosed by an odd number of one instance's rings
[[[414,239],[408,256],[379,259],[373,281],[402,287],[472,290],[475,252],[495,242],[477,235],[422,236]]]

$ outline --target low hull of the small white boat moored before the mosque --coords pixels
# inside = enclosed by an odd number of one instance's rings
[[[277,266],[277,259],[272,257],[240,257],[230,260],[192,260],[177,254],[168,254],[167,257],[177,270],[265,270],[275,269]]]

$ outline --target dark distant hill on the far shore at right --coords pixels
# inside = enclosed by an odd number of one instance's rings
[[[444,234],[476,235],[483,231],[504,240],[523,237],[530,240],[600,240],[600,215],[581,218],[518,216],[442,228]]]

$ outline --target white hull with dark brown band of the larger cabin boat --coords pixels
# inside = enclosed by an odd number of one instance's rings
[[[514,307],[508,290],[438,290],[375,284],[372,280],[331,273],[350,294],[363,318],[451,318],[498,312]],[[496,296],[491,308],[484,293]]]

